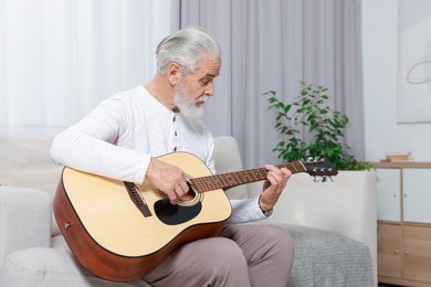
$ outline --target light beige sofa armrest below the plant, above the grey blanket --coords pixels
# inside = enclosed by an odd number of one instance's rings
[[[270,222],[311,226],[368,245],[377,272],[377,179],[372,171],[339,171],[334,182],[314,182],[306,173],[291,177]],[[249,195],[260,188],[249,187]]]

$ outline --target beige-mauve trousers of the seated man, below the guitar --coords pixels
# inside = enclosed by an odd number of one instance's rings
[[[294,243],[273,225],[228,225],[219,237],[178,248],[144,277],[153,286],[285,287]]]

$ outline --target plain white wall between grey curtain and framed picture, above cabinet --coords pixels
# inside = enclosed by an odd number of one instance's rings
[[[362,0],[366,160],[411,151],[431,161],[431,123],[397,124],[397,34],[398,1]]]

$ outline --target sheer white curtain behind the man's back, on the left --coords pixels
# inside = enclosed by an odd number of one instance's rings
[[[0,132],[55,134],[147,82],[169,0],[0,0]]]

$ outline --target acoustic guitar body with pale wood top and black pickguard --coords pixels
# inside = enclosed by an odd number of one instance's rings
[[[190,153],[158,159],[180,167],[189,178],[211,176]],[[217,236],[231,214],[222,189],[191,192],[189,200],[171,205],[149,181],[135,185],[67,167],[53,210],[78,262],[114,281],[140,278],[180,245]]]

